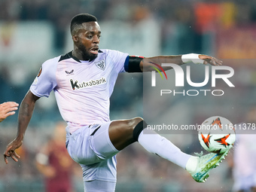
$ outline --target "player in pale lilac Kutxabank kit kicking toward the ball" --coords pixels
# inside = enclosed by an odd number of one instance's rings
[[[8,157],[15,161],[20,158],[15,149],[22,145],[35,102],[41,96],[49,96],[53,90],[60,114],[68,123],[66,148],[83,169],[85,191],[114,191],[116,154],[133,142],[139,142],[147,151],[187,169],[196,181],[205,181],[209,171],[218,166],[227,153],[193,157],[157,133],[143,134],[147,123],[142,117],[111,121],[109,98],[120,72],[149,72],[151,66],[155,67],[152,62],[161,66],[161,63],[181,65],[186,62],[221,65],[221,61],[194,53],[147,58],[99,49],[101,30],[96,17],[90,14],[72,18],[71,34],[74,49],[44,62],[23,99],[17,138],[6,148],[5,163],[8,163]]]

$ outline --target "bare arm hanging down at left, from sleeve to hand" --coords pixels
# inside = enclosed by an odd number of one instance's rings
[[[39,97],[33,95],[30,91],[26,94],[21,102],[20,110],[19,110],[19,117],[18,117],[18,130],[17,130],[17,137],[9,143],[6,147],[4,158],[5,163],[8,164],[8,157],[11,157],[14,161],[18,161],[20,156],[15,152],[17,148],[23,143],[23,138],[26,132],[26,128],[29,125],[29,121],[32,117],[32,113],[35,108],[35,102],[38,100]]]

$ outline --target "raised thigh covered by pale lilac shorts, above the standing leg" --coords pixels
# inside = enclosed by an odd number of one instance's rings
[[[75,133],[67,130],[66,147],[77,163],[90,165],[113,157],[119,151],[112,145],[108,128],[111,122],[81,127]]]

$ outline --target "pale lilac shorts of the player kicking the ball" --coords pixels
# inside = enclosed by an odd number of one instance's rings
[[[111,122],[82,126],[74,133],[66,128],[66,147],[75,162],[83,169],[84,181],[117,181],[116,154],[108,128]]]

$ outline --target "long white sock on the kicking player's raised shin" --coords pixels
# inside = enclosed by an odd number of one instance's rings
[[[186,168],[187,160],[192,157],[183,153],[179,148],[172,144],[168,139],[158,135],[153,130],[147,130],[147,133],[140,133],[138,142],[148,152],[157,154],[166,160],[175,163],[182,168]]]

